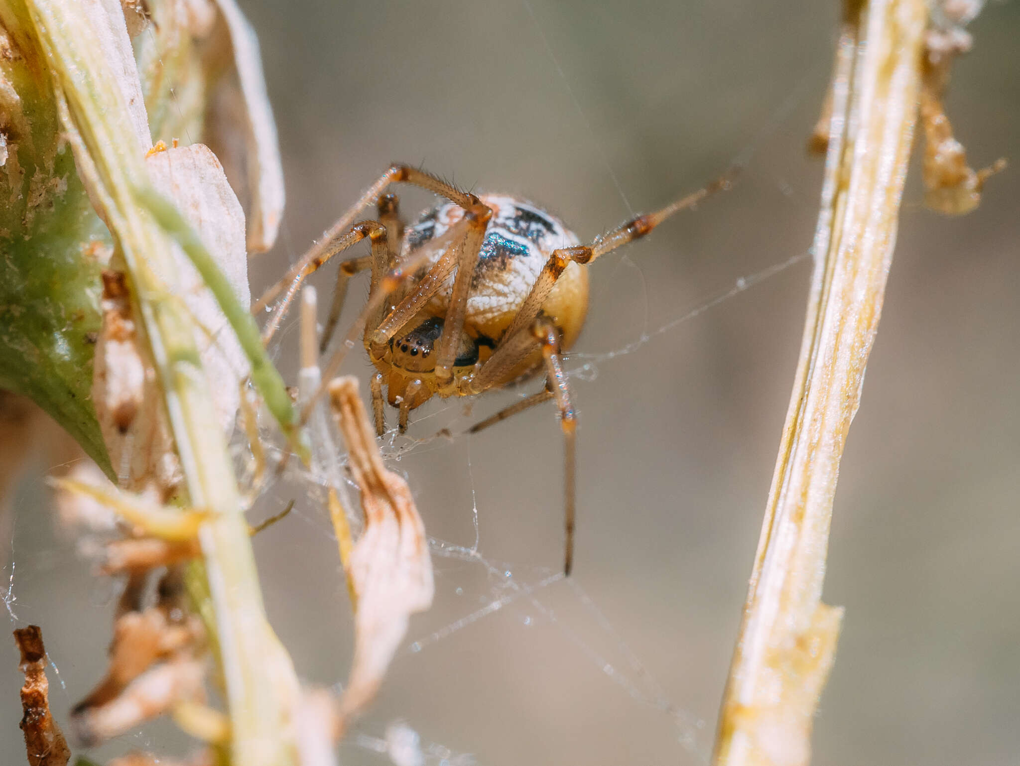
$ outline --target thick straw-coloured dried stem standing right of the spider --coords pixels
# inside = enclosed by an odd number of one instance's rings
[[[719,717],[716,764],[806,764],[843,610],[821,603],[917,118],[924,0],[848,2],[800,362]]]

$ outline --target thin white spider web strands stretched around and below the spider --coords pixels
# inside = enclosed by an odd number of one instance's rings
[[[543,46],[555,67],[557,76],[563,82],[571,103],[584,122],[596,153],[604,164],[612,185],[617,190],[628,213],[633,214],[633,208],[624,193],[620,180],[614,172],[606,153],[601,150],[592,124],[570,88],[563,68],[556,59],[553,47],[543,30],[543,24],[534,8],[527,0],[524,0],[524,6],[542,38]],[[780,105],[772,111],[769,119],[760,127],[754,140],[734,157],[734,165],[747,166],[752,162],[758,148],[788,118],[792,111],[803,100],[808,86],[814,85],[814,80],[813,76],[806,78],[793,89]],[[780,177],[775,178],[773,183],[780,189],[788,186]],[[670,318],[656,323],[654,328],[651,328],[652,319],[649,310],[651,299],[648,280],[641,266],[624,253],[620,257],[617,267],[622,265],[633,269],[641,283],[642,329],[636,337],[607,351],[578,351],[569,354],[567,357],[568,375],[576,381],[591,382],[596,379],[602,365],[617,360],[622,361],[623,357],[631,355],[640,356],[640,352],[648,351],[647,347],[656,339],[675,330],[685,322],[736,298],[751,288],[761,285],[809,258],[810,253],[800,252],[742,274],[732,279],[729,285],[724,285],[715,292],[696,298],[686,308],[679,311],[674,310],[675,313]],[[510,636],[515,633],[533,629],[536,625],[542,624],[550,628],[550,634],[555,634],[556,637],[550,637],[548,641],[559,642],[558,652],[563,652],[565,648],[567,653],[580,658],[590,669],[594,668],[598,675],[608,680],[616,690],[615,694],[619,695],[621,699],[630,700],[641,709],[651,711],[653,718],[660,721],[659,727],[667,732],[666,738],[674,743],[676,754],[685,754],[686,759],[692,763],[707,763],[712,743],[710,720],[706,720],[705,716],[695,714],[686,706],[676,702],[675,691],[672,693],[667,691],[665,685],[657,679],[656,673],[643,661],[639,652],[631,647],[628,641],[631,626],[618,627],[617,623],[600,608],[597,598],[593,597],[581,584],[581,577],[565,578],[562,572],[549,565],[521,563],[520,560],[504,561],[500,558],[494,558],[486,552],[490,538],[489,532],[483,531],[483,529],[491,515],[487,512],[484,503],[479,508],[475,468],[472,464],[472,441],[463,436],[464,426],[479,419],[478,416],[469,411],[470,409],[473,408],[465,408],[462,403],[456,402],[434,404],[431,409],[419,416],[412,426],[419,433],[424,432],[426,436],[407,439],[399,437],[395,430],[391,430],[384,438],[384,453],[391,462],[391,466],[397,470],[403,470],[411,481],[412,488],[415,487],[416,470],[414,468],[402,469],[400,466],[402,460],[422,458],[429,453],[449,453],[461,443],[466,443],[462,459],[470,493],[470,511],[469,514],[459,514],[461,528],[466,532],[459,539],[471,540],[473,538],[473,543],[470,545],[451,542],[439,537],[429,538],[436,567],[438,602],[436,611],[442,610],[449,613],[450,608],[443,609],[442,604],[451,600],[465,604],[474,602],[475,605],[459,609],[454,607],[454,616],[442,620],[438,626],[421,628],[422,622],[430,622],[430,620],[427,618],[412,620],[405,649],[395,659],[392,675],[403,678],[405,674],[413,674],[414,668],[420,667],[421,663],[427,664],[434,653],[450,644],[456,644],[460,651],[465,651],[465,648],[469,647],[471,651],[484,652],[484,648],[476,647],[476,642],[479,641],[476,635],[479,628],[488,622],[499,620],[502,626],[503,635],[498,639],[499,646],[491,647],[494,652],[499,652],[507,641],[513,641]],[[489,411],[489,408],[486,408],[486,412]],[[436,423],[441,423],[442,428]],[[429,432],[434,436],[427,436]],[[428,508],[429,501],[426,498],[419,502],[422,504],[422,511],[426,514],[427,519],[428,511],[425,509]],[[549,505],[555,513],[556,504]],[[464,527],[465,521],[468,519],[469,529]],[[555,560],[554,558],[553,561]],[[487,635],[492,637],[491,632]],[[342,683],[338,682],[338,688],[341,685]],[[401,687],[404,687],[402,681]],[[499,688],[490,690],[487,699],[491,696],[498,696],[499,692]],[[437,698],[439,699],[438,693]],[[385,705],[385,703],[380,703],[380,705]],[[353,734],[347,748],[350,749],[353,746],[364,752],[389,758],[393,763],[399,765],[405,763],[452,765],[487,762],[484,754],[473,756],[465,752],[455,753],[446,746],[427,743],[422,738],[422,735],[417,733],[415,728],[412,728],[414,725],[413,713],[406,707],[401,709],[400,705],[397,705],[396,708],[397,718],[391,720],[389,724],[382,722],[381,711],[370,714],[368,720],[363,722]],[[425,716],[425,718],[432,719],[431,724],[435,725],[436,721],[431,716]],[[375,720],[372,721],[372,719]],[[404,719],[410,719],[410,722],[405,722]],[[420,723],[422,729],[428,725],[429,723],[425,720]],[[505,725],[513,727],[513,721],[507,720]],[[555,728],[557,724],[553,721],[550,722],[550,725]],[[398,744],[395,744],[395,737]],[[461,748],[466,747],[465,737],[458,737],[455,741],[447,737],[447,741],[457,742]],[[666,752],[668,753],[668,750]],[[489,757],[491,758],[491,756]],[[357,757],[353,760],[360,762]],[[541,758],[536,760],[541,760]]]

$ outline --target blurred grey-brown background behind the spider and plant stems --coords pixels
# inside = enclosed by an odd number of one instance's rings
[[[810,263],[677,320],[809,247],[822,168],[805,145],[837,4],[242,5],[261,39],[289,199],[279,244],[251,264],[256,295],[393,160],[529,198],[589,240],[750,157],[731,192],[591,269],[589,319],[567,363],[580,416],[571,580],[555,576],[552,405],[476,437],[428,440],[541,384],[434,401],[415,413],[413,439],[387,438],[437,541],[436,604],[412,618],[341,751],[343,763],[386,763],[377,751],[403,721],[430,764],[705,763]],[[917,173],[908,181],[833,515],[824,600],[847,611],[816,764],[1013,764],[1020,752],[1018,17],[1016,3],[984,9],[948,98],[972,164],[1005,155],[1014,167],[958,219],[924,210]],[[401,194],[407,216],[430,203]],[[333,278],[315,279],[320,294]],[[276,347],[292,380],[294,330]],[[364,355],[347,370],[367,393]],[[66,720],[105,667],[115,593],[52,528],[48,467],[18,488],[0,594],[10,582],[10,628],[43,626]],[[303,679],[343,682],[350,608],[324,510],[303,488],[277,486],[253,517],[292,497],[296,513],[255,540],[267,608]],[[480,559],[439,550],[476,541]],[[23,762],[20,675],[13,646],[0,656],[6,766]],[[132,748],[187,744],[157,724],[96,755]]]

